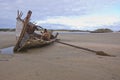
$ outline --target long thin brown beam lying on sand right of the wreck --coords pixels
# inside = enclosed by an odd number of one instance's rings
[[[71,47],[74,47],[74,48],[77,48],[77,49],[83,49],[83,50],[86,50],[86,51],[90,51],[90,52],[96,53],[96,55],[115,57],[114,55],[109,55],[109,54],[107,54],[107,53],[105,53],[103,51],[95,51],[95,50],[92,50],[92,49],[88,49],[88,48],[84,48],[84,47],[68,44],[68,43],[65,43],[65,42],[61,42],[59,40],[57,40],[56,42],[64,44],[64,45],[67,45],[67,46],[71,46]]]

